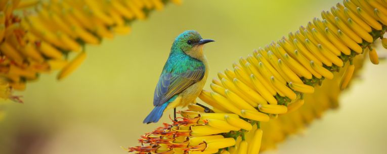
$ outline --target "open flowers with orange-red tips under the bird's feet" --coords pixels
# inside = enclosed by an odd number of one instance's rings
[[[236,114],[205,113],[206,108],[190,104],[190,110],[181,111],[183,118],[174,124],[164,124],[139,139],[143,146],[131,147],[130,152],[136,153],[229,153],[223,150],[234,146],[241,134],[241,129],[251,130],[250,123]],[[207,111],[208,112],[208,111]],[[212,112],[212,111],[209,111]],[[232,131],[230,133],[230,131]],[[261,144],[262,130],[256,130],[255,143],[250,148],[257,151]],[[144,145],[149,144],[149,145]],[[246,153],[247,146],[242,153]]]

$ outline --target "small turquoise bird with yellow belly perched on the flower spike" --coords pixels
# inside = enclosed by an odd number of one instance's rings
[[[184,31],[176,37],[154,91],[154,108],[143,123],[158,122],[169,109],[174,109],[176,121],[176,107],[186,107],[195,101],[208,73],[203,46],[213,41],[203,39],[195,30]]]

